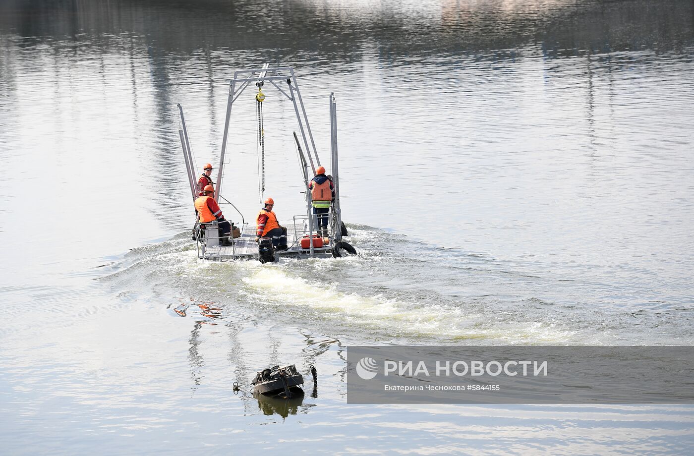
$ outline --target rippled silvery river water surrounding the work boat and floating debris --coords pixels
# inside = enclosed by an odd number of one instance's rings
[[[687,453],[684,405],[347,405],[344,350],[694,344],[693,51],[691,1],[4,1],[2,453]],[[176,103],[217,167],[264,62],[324,161],[336,94],[357,257],[196,258]],[[293,108],[262,194],[247,95],[222,193],[288,220]],[[317,397],[248,393],[282,362]]]

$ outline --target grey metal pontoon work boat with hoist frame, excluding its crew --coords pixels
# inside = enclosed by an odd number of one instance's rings
[[[282,96],[287,97],[294,105],[298,131],[301,135],[300,141],[295,131],[294,142],[298,151],[298,160],[301,173],[303,174],[302,178],[305,189],[307,189],[312,176],[316,175],[316,168],[321,166],[313,133],[311,132],[306,110],[301,99],[301,92],[296,83],[296,76],[294,76],[294,68],[269,67],[268,64],[265,64],[260,69],[235,71],[234,78],[230,81],[229,87],[226,119],[224,121],[224,135],[221,143],[221,154],[217,171],[217,185],[214,187],[214,200],[217,201],[221,207],[223,207],[223,205],[230,205],[237,212],[239,212],[239,210],[236,206],[223,198],[220,192],[224,176],[223,168],[225,160],[227,159],[226,144],[232,106],[237,101],[240,102],[239,96],[241,96],[244,90],[252,84],[255,84],[255,87],[257,87],[257,94],[255,94],[255,103],[257,104],[258,112],[257,133],[259,145],[262,148],[263,163],[265,159],[265,149],[262,102],[265,99],[265,94],[262,90],[263,87],[271,87],[271,89],[278,90]],[[262,238],[260,242],[255,242],[255,220],[246,221],[243,214],[239,212],[241,224],[240,226],[232,225],[232,235],[228,238],[220,237],[218,221],[201,223],[196,219],[193,228],[193,239],[196,241],[198,258],[201,260],[217,261],[256,259],[260,260],[260,262],[276,262],[280,260],[282,256],[298,258],[341,257],[357,253],[353,246],[350,246],[350,244],[343,240],[343,237],[348,235],[348,233],[342,222],[340,211],[339,167],[337,163],[337,109],[335,94],[331,92],[328,100],[328,104],[330,105],[330,164],[332,169],[332,176],[330,177],[335,187],[335,200],[332,202],[332,205],[330,205],[328,217],[328,232],[324,233],[323,230],[319,232],[318,221],[316,216],[312,214],[311,192],[307,190],[303,192],[306,196],[305,214],[294,215],[291,221],[285,221],[285,223],[280,222],[282,226],[287,228],[287,245],[282,246],[283,248],[281,250],[273,248],[269,238]],[[183,157],[185,158],[190,191],[193,201],[195,201],[198,197],[196,174],[198,167],[196,167],[194,155],[190,147],[188,130],[185,126],[185,117],[183,115],[183,107],[180,104],[178,105],[178,110],[180,112],[180,128],[178,129],[178,135],[180,136],[180,144],[183,149]],[[309,167],[312,174],[309,174]],[[264,183],[264,167],[262,172]],[[262,191],[264,191],[264,184]]]

